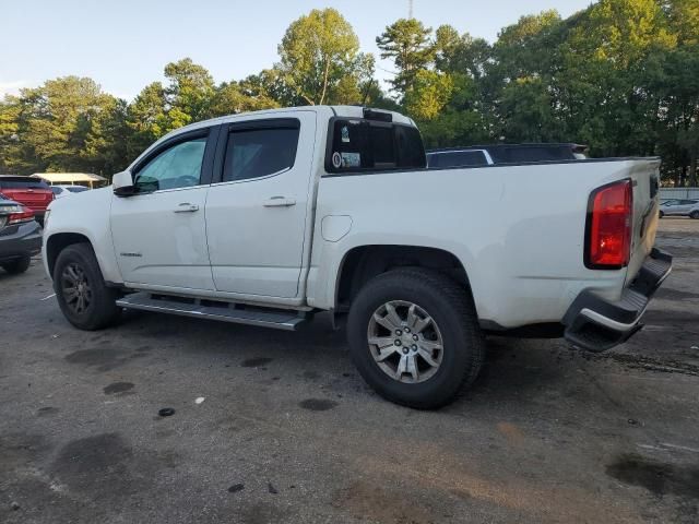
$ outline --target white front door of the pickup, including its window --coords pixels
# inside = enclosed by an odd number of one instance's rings
[[[215,135],[204,129],[166,141],[132,170],[135,194],[114,196],[111,237],[127,284],[214,289],[204,211]]]

